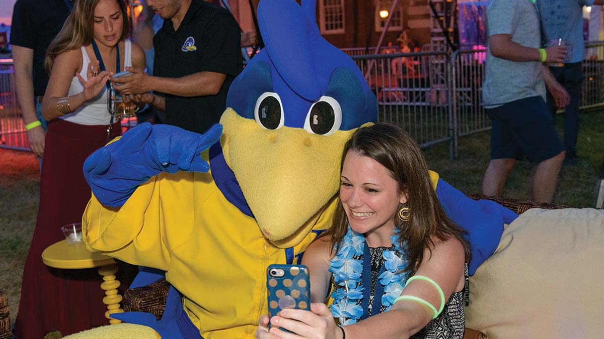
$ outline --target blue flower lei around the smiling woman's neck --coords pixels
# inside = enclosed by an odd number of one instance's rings
[[[402,253],[403,258],[397,256],[396,252],[391,250],[382,252],[386,270],[380,274],[378,279],[379,283],[384,286],[384,294],[382,295],[382,305],[385,306],[384,311],[388,311],[394,299],[400,296],[408,279],[408,273],[397,274],[408,263],[406,258],[404,258],[405,252],[400,248],[399,236],[393,235],[390,239],[394,245],[394,250]],[[352,230],[349,226],[348,232],[346,232],[344,239],[342,239],[341,247],[330,260],[329,271],[333,274],[333,281],[335,282],[332,292],[334,300],[330,308],[333,317],[338,318],[342,326],[358,322],[364,313],[361,306],[361,299],[363,298],[363,290],[365,288],[361,278],[364,246],[365,237],[361,233]],[[379,310],[377,312],[373,311],[373,314],[377,313],[379,313]]]

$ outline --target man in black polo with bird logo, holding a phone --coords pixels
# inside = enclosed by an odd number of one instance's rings
[[[227,10],[202,0],[147,5],[164,19],[153,37],[153,76],[127,68],[133,74],[112,78],[114,87],[165,110],[168,124],[203,133],[219,122],[228,87],[242,70],[239,25]]]

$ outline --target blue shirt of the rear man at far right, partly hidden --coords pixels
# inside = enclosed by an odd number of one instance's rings
[[[591,6],[594,0],[537,0],[543,39],[549,43],[562,39],[571,46],[570,63],[582,62],[585,59],[585,42],[583,41],[583,6]]]

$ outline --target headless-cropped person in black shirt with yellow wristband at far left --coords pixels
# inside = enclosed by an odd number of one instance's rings
[[[16,90],[31,151],[39,157],[43,156],[46,136],[41,102],[48,84],[44,59],[48,45],[63,27],[69,11],[71,0],[17,0],[14,3],[10,44]]]

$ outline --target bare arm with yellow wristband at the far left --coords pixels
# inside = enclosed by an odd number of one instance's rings
[[[36,106],[34,106],[34,81],[33,62],[34,50],[27,47],[13,45],[14,75],[16,78],[17,97],[21,105],[21,113],[25,124],[37,121]],[[31,151],[39,157],[44,154],[44,138],[46,136],[42,126],[31,128],[27,131],[27,140]]]

